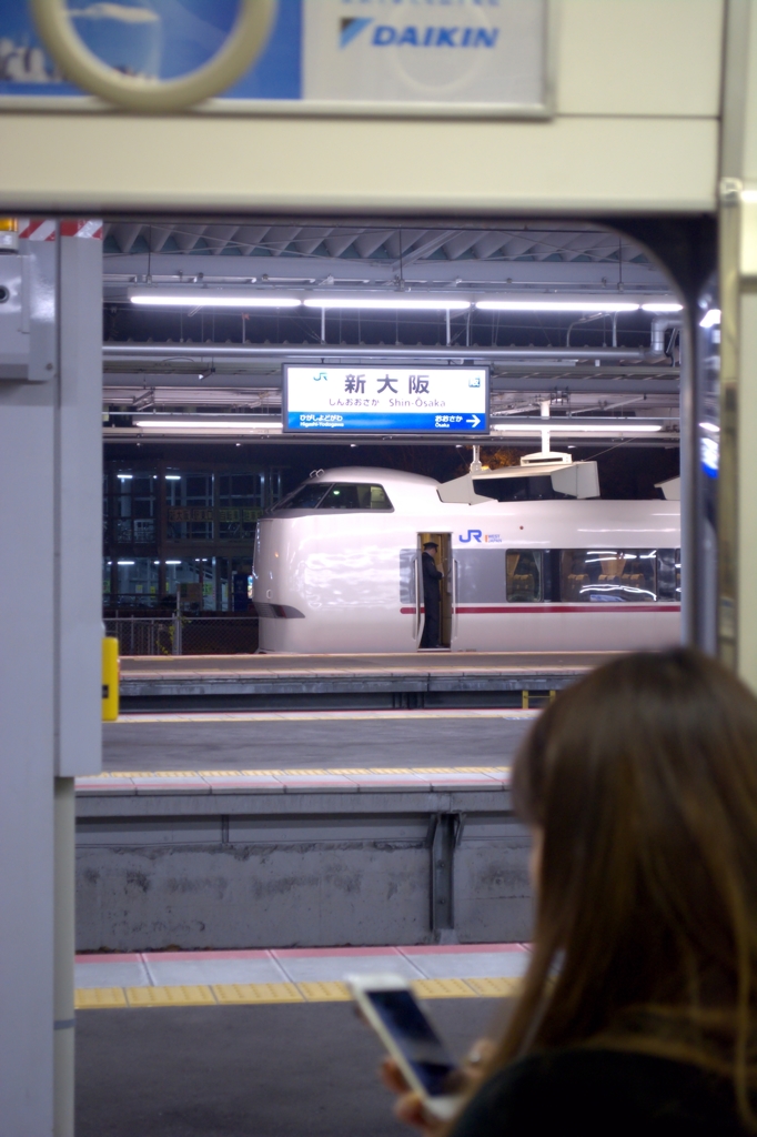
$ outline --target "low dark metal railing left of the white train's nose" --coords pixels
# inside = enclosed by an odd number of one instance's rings
[[[119,655],[249,655],[258,648],[257,616],[118,616],[105,625]]]

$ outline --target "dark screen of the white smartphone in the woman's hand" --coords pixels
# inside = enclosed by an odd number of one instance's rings
[[[456,1067],[409,990],[373,990],[367,997],[378,1018],[413,1067],[430,1097],[455,1093],[450,1074]]]

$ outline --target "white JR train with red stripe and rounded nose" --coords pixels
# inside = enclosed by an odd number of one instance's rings
[[[472,467],[473,468],[473,467]],[[676,642],[680,505],[609,501],[594,463],[469,473],[318,471],[258,524],[260,649],[413,652],[439,545],[441,644],[463,652]]]

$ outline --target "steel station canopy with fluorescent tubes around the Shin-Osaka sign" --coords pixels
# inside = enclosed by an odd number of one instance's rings
[[[282,441],[288,366],[483,368],[476,441],[679,441],[679,298],[588,223],[116,218],[103,296],[113,441]]]

